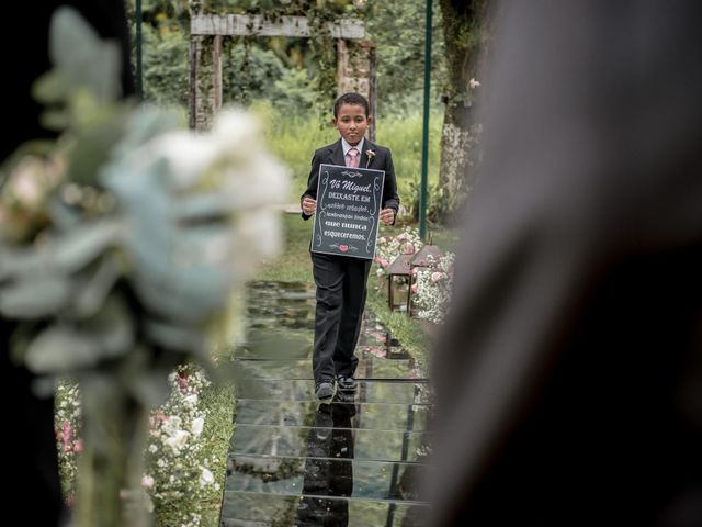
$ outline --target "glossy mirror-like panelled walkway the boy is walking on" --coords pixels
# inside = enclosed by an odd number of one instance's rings
[[[366,312],[356,393],[317,403],[314,295],[307,284],[250,287],[220,525],[420,526],[427,381]]]

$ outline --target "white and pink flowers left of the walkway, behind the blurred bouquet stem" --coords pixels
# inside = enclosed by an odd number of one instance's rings
[[[220,485],[212,471],[225,466],[223,456],[208,452],[202,437],[205,412],[202,391],[211,383],[200,368],[179,368],[169,375],[166,404],[151,413],[146,448],[141,500],[148,511],[173,527],[197,527],[203,504],[218,500]],[[75,501],[78,458],[82,448],[80,390],[73,382],[59,384],[56,438],[66,500]]]

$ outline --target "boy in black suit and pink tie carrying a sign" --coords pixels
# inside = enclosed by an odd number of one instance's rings
[[[301,198],[302,216],[308,220],[317,206],[319,166],[341,165],[385,171],[381,221],[395,223],[399,208],[397,182],[390,150],[367,141],[365,132],[372,117],[369,101],[359,93],[344,93],[333,105],[333,125],[341,137],[315,152],[307,190]],[[365,284],[371,260],[349,256],[310,253],[317,285],[313,373],[315,394],[331,401],[335,381],[340,391],[355,391],[353,379],[359,359],[354,356],[361,315],[365,305]]]

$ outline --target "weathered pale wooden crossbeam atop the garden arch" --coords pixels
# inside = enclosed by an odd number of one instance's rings
[[[358,19],[327,22],[333,38],[363,40],[365,25]],[[305,16],[281,16],[268,20],[248,14],[195,14],[190,22],[191,35],[312,36]]]

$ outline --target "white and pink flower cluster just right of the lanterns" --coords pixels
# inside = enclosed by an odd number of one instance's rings
[[[412,285],[414,300],[419,309],[417,316],[434,324],[442,324],[451,303],[453,289],[453,262],[455,255],[428,257],[429,266],[417,271]]]

